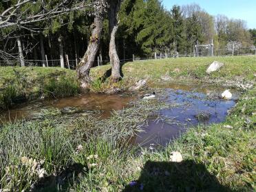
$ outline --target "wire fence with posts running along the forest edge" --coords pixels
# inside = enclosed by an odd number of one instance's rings
[[[121,63],[126,63],[129,61],[146,61],[150,59],[163,59],[163,58],[178,58],[178,57],[202,57],[202,56],[212,56],[211,50],[207,48],[200,48],[198,52],[191,52],[191,53],[167,53],[167,52],[155,52],[151,54],[151,56],[146,57],[139,57],[133,55],[132,58],[125,58],[121,59]],[[230,49],[219,49],[214,50],[213,56],[248,56],[248,55],[255,55],[256,56],[256,48],[255,47],[239,47],[239,49],[236,50],[230,50]],[[99,57],[96,61],[94,61],[94,67],[105,65],[106,63],[109,63],[109,60],[100,60]],[[24,59],[25,66],[45,66],[45,67],[61,67],[61,59],[54,59],[54,60],[25,60]],[[70,70],[76,70],[76,67],[78,65],[79,61],[77,59],[70,59],[64,60],[64,67]],[[0,61],[0,66],[19,66],[21,65],[20,59],[12,59],[12,60],[4,60]]]

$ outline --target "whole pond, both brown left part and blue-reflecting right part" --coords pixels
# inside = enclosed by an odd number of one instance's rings
[[[156,116],[149,118],[147,126],[144,127],[145,131],[132,138],[132,143],[142,147],[164,146],[191,126],[224,121],[228,110],[235,105],[239,98],[239,92],[232,89],[233,97],[230,100],[224,100],[220,98],[221,93],[225,90],[224,87],[211,85],[158,83],[150,86],[152,89],[158,90],[158,99],[167,104],[175,104],[175,107],[156,111],[160,118],[156,119]],[[139,99],[144,92],[115,95],[85,94],[54,100],[35,100],[19,105],[16,109],[3,111],[0,120],[6,122],[29,118],[35,112],[49,107],[61,109],[63,114],[100,111],[98,116],[108,118],[111,116],[112,110],[127,107],[131,101]],[[158,96],[158,92],[162,94]]]

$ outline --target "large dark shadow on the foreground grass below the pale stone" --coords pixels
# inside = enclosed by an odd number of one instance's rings
[[[204,164],[147,161],[140,178],[128,184],[128,191],[231,191],[207,171]]]

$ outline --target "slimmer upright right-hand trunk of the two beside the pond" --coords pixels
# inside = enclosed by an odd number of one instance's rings
[[[117,82],[120,80],[120,60],[116,51],[116,32],[118,30],[117,14],[120,9],[120,4],[122,0],[111,0],[110,10],[109,10],[109,58],[112,65],[111,70],[111,81]]]

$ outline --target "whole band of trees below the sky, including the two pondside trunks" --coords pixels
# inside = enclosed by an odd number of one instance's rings
[[[245,21],[214,17],[197,4],[167,10],[159,0],[6,0],[0,12],[0,60],[45,66],[47,56],[49,65],[57,59],[65,67],[68,55],[83,79],[97,56],[110,61],[118,79],[120,59],[133,54],[191,54],[212,41],[215,50],[255,46],[255,29]]]

